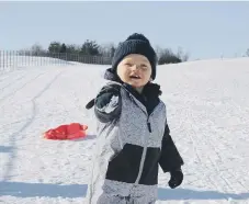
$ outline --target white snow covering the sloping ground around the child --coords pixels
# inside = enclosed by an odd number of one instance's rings
[[[95,141],[93,111],[107,66],[70,64],[0,72],[0,203],[82,204]],[[185,165],[169,189],[159,174],[158,204],[249,203],[249,58],[158,67],[156,82]],[[60,124],[89,126],[88,137],[46,140]]]

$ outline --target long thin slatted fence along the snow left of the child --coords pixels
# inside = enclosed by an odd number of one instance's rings
[[[26,66],[69,65],[70,61],[111,65],[112,58],[68,53],[0,50],[1,70]]]

